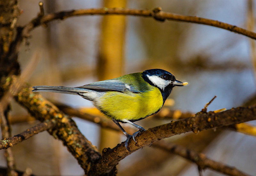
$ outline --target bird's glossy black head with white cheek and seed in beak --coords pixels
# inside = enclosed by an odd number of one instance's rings
[[[187,83],[182,83],[175,79],[170,72],[163,69],[150,69],[142,72],[143,79],[152,86],[156,86],[162,93],[164,101],[172,92],[175,86],[184,86]]]

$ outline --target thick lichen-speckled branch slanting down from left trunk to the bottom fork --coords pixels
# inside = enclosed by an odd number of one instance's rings
[[[4,85],[5,89],[16,77],[13,76],[8,79],[10,81]],[[76,123],[40,94],[33,93],[32,88],[22,86],[21,91],[14,98],[40,121],[57,119],[56,129],[48,130],[48,132],[63,142],[87,174],[92,163],[99,159],[101,155],[97,148],[78,130]]]

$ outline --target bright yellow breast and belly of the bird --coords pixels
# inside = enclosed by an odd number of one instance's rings
[[[109,118],[118,121],[136,121],[154,114],[163,106],[163,97],[158,88],[148,92],[107,92],[100,98],[97,106]]]

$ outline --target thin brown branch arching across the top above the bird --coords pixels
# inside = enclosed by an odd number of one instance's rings
[[[22,37],[29,36],[29,32],[36,28],[39,25],[46,24],[52,20],[64,20],[68,17],[73,16],[81,16],[81,15],[132,15],[132,16],[142,16],[142,17],[152,17],[158,21],[164,20],[175,20],[175,21],[183,21],[197,24],[204,24],[208,26],[214,26],[217,28],[222,28],[229,30],[231,32],[235,32],[252,39],[256,39],[256,33],[252,31],[248,31],[243,28],[239,28],[237,26],[223,23],[217,20],[210,20],[206,18],[196,17],[196,16],[185,16],[179,15],[169,12],[163,12],[160,7],[155,8],[154,10],[140,10],[140,9],[124,9],[124,8],[98,8],[98,9],[79,9],[79,10],[71,10],[71,11],[61,11],[50,13],[44,15],[43,17],[38,16],[30,21],[27,25],[24,26],[22,31]]]

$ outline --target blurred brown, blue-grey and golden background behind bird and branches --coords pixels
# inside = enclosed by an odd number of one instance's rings
[[[45,13],[100,7],[153,9],[219,20],[254,30],[255,2],[246,0],[43,0]],[[23,10],[18,23],[27,24],[39,12],[39,1],[19,1]],[[252,5],[250,5],[252,3]],[[170,71],[188,86],[174,88],[167,108],[199,112],[215,95],[208,110],[242,106],[255,97],[255,44],[248,37],[210,26],[176,21],[159,22],[134,16],[80,16],[57,20],[31,32],[21,48],[25,68],[35,51],[42,59],[29,79],[31,86],[80,86],[151,68]],[[79,96],[41,93],[74,108],[92,107]],[[161,113],[161,112],[160,112]],[[19,122],[29,116],[12,102],[12,134],[38,121]],[[16,119],[16,120],[15,120]],[[73,117],[78,128],[100,151],[124,141],[122,133]],[[138,124],[148,129],[170,120],[148,117]],[[256,125],[255,121],[250,122]],[[126,124],[124,124],[125,126]],[[166,141],[203,152],[211,159],[256,175],[256,138],[230,130],[186,133]],[[83,175],[75,158],[47,132],[12,147],[17,168],[31,168],[36,175]],[[6,166],[0,150],[0,165]],[[160,149],[145,147],[118,164],[118,175],[198,175],[196,164]],[[206,170],[204,176],[221,175]]]

